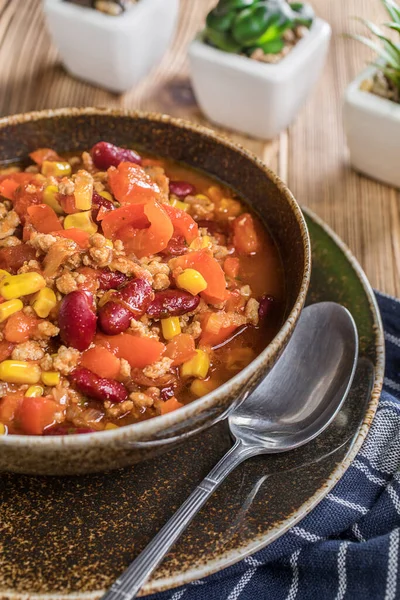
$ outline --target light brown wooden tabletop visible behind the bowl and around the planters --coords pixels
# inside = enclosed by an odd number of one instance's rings
[[[167,1],[167,0],[165,0]],[[216,0],[181,0],[170,51],[145,81],[116,96],[67,75],[44,26],[41,0],[0,0],[0,115],[62,106],[113,106],[169,113],[207,123],[191,92],[187,45]],[[231,134],[289,184],[350,246],[373,286],[400,296],[400,198],[396,190],[354,173],[347,164],[341,104],[348,82],[371,55],[343,33],[350,17],[385,20],[378,0],[313,0],[332,25],[322,80],[290,129],[271,142]],[[387,19],[386,19],[387,20]]]

